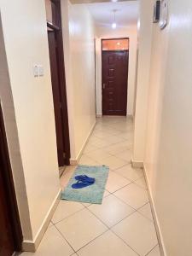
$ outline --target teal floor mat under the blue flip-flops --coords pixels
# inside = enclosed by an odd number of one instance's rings
[[[61,199],[68,201],[81,201],[91,204],[102,204],[102,197],[108,179],[108,166],[78,166],[69,180],[67,188],[62,192]],[[95,177],[96,182],[83,189],[73,189],[72,184],[76,183],[75,176],[87,175]]]

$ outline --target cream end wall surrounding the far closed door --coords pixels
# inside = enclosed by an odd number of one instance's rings
[[[103,38],[130,38],[127,114],[133,115],[137,61],[137,26],[117,28],[96,26],[96,114],[102,114],[102,45]]]

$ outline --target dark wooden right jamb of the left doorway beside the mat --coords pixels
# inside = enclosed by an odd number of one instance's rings
[[[62,22],[61,22],[61,0],[50,0],[55,3],[58,10],[58,15],[56,16],[57,24],[55,26],[47,22],[47,26],[55,30],[56,38],[59,42],[58,51],[59,51],[59,60],[58,60],[58,69],[59,69],[59,86],[61,94],[61,105],[62,105],[62,131],[64,137],[64,148],[66,153],[65,164],[70,165],[71,151],[70,151],[70,139],[69,139],[69,125],[68,125],[68,110],[67,110],[67,88],[66,88],[66,73],[65,73],[65,62],[64,62],[64,50],[63,50],[63,37],[62,37]],[[62,85],[62,86],[61,86]]]

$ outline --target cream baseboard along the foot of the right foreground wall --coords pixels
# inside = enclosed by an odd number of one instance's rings
[[[143,172],[144,172],[145,180],[146,180],[146,183],[147,183],[147,186],[148,186],[149,202],[150,202],[150,205],[151,205],[151,211],[152,211],[152,215],[154,217],[154,225],[155,225],[155,228],[156,228],[157,238],[158,238],[159,245],[160,245],[160,255],[161,256],[167,256],[166,247],[165,247],[165,244],[164,244],[164,241],[163,241],[162,232],[160,230],[160,222],[159,222],[157,212],[156,212],[155,207],[154,207],[153,195],[152,195],[152,192],[151,192],[150,185],[148,183],[148,175],[147,175],[147,172],[146,172],[145,165],[143,165]]]

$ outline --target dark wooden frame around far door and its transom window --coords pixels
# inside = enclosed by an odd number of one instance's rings
[[[121,51],[127,51],[128,58],[127,58],[127,94],[126,94],[126,115],[127,115],[127,105],[128,105],[128,79],[129,79],[129,49],[116,49],[116,50],[102,50],[102,41],[105,40],[122,40],[127,39],[128,43],[130,44],[130,38],[102,38],[101,39],[101,52],[121,52]],[[102,55],[102,61],[103,61],[103,55]],[[103,68],[102,68],[102,84],[103,84]],[[103,86],[102,86],[102,115],[103,115]]]

